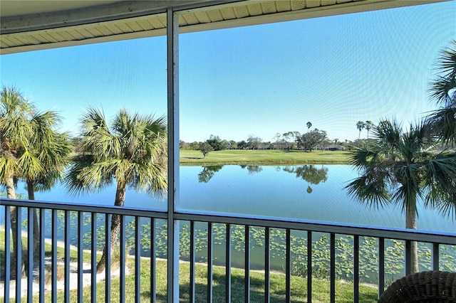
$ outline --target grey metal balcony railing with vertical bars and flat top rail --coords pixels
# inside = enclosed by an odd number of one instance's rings
[[[9,213],[11,210],[17,212],[17,218],[15,222],[11,221]],[[33,211],[38,211],[38,226],[40,231],[39,241],[39,258],[37,262],[33,262]],[[76,296],[78,302],[83,302],[83,260],[84,250],[88,248],[90,250],[90,268],[95,269],[97,263],[97,254],[93,253],[100,250],[100,246],[104,246],[104,243],[110,243],[110,233],[105,233],[104,230],[110,230],[110,219],[111,216],[120,216],[121,230],[119,237],[119,260],[125,260],[128,252],[135,255],[134,271],[130,275],[140,277],[141,275],[141,262],[140,257],[144,253],[142,242],[149,243],[147,245],[148,254],[150,258],[150,268],[147,270],[150,272],[150,301],[159,302],[160,299],[156,297],[157,287],[157,260],[152,256],[161,256],[167,258],[169,252],[167,248],[169,245],[169,238],[167,238],[167,213],[158,211],[145,211],[139,209],[128,209],[118,207],[100,207],[100,206],[85,206],[85,205],[68,205],[65,203],[47,203],[39,201],[21,201],[21,200],[9,200],[2,199],[0,206],[0,218],[3,219],[1,225],[4,227],[4,255],[0,260],[0,282],[4,285],[4,293],[0,294],[0,297],[4,297],[5,302],[9,302],[10,298],[15,298],[16,302],[21,302],[21,299],[26,299],[27,302],[31,302],[33,298],[33,287],[38,288],[38,294],[35,294],[39,298],[39,302],[69,302],[70,300],[70,262],[71,253],[75,253],[77,250],[77,289]],[[313,222],[313,221],[301,221],[301,220],[273,220],[270,218],[249,218],[242,216],[213,216],[207,214],[194,214],[194,213],[174,213],[175,225],[181,225],[180,229],[177,229],[177,233],[174,235],[173,240],[177,240],[177,245],[174,245],[174,255],[182,258],[180,253],[179,239],[181,242],[188,243],[189,254],[185,256],[185,259],[190,262],[190,273],[189,273],[189,290],[188,297],[190,302],[198,302],[195,297],[195,267],[197,265],[197,250],[204,249],[205,257],[204,262],[207,266],[207,290],[206,299],[207,302],[212,302],[213,299],[213,268],[214,268],[214,253],[215,247],[219,248],[220,245],[224,245],[224,262],[222,265],[225,268],[224,275],[224,297],[225,302],[232,302],[232,284],[231,284],[231,272],[232,272],[232,245],[234,241],[241,241],[244,245],[243,257],[244,257],[244,302],[249,302],[251,299],[250,294],[250,277],[251,277],[251,265],[252,260],[252,233],[254,230],[261,229],[261,243],[264,248],[264,301],[269,302],[270,293],[270,278],[271,278],[271,254],[274,252],[274,245],[276,241],[284,241],[284,252],[283,256],[285,260],[284,266],[284,277],[285,277],[285,294],[284,299],[286,302],[291,302],[291,277],[293,275],[292,257],[296,257],[296,240],[293,233],[304,233],[306,235],[305,255],[299,257],[306,260],[306,266],[302,268],[303,272],[306,272],[306,294],[307,302],[312,301],[312,282],[314,268],[312,267],[313,261],[316,256],[313,252],[316,248],[316,242],[312,240],[313,236],[320,235],[320,233],[328,234],[328,277],[330,284],[330,297],[331,302],[335,302],[336,299],[336,281],[338,276],[336,275],[336,263],[338,262],[338,239],[343,235],[348,235],[351,241],[351,250],[353,250],[353,302],[359,302],[359,285],[360,285],[360,266],[363,266],[360,256],[360,240],[363,241],[363,237],[375,238],[375,242],[378,247],[378,264],[376,264],[378,270],[375,272],[378,275],[378,296],[383,293],[385,289],[385,251],[387,250],[389,239],[403,240],[405,241],[405,255],[403,262],[405,262],[405,272],[410,272],[410,241],[418,241],[420,243],[430,243],[432,262],[429,270],[438,270],[440,267],[440,247],[442,245],[456,245],[456,233],[439,233],[430,232],[423,230],[405,230],[402,228],[378,228],[365,225],[350,225],[340,223],[325,223],[325,222]],[[160,223],[159,223],[160,221]],[[160,225],[161,224],[161,225]],[[15,225],[16,230],[21,230],[23,233],[18,233],[16,239],[11,239],[10,229],[11,225]],[[185,225],[187,233],[182,233],[183,226]],[[197,225],[203,225],[203,229],[207,232],[202,235],[197,228]],[[216,226],[217,225],[217,226]],[[128,228],[130,226],[130,229]],[[141,227],[143,226],[143,227]],[[150,233],[143,233],[144,226],[150,228]],[[216,228],[217,227],[217,228]],[[236,227],[234,231],[234,227]],[[161,229],[160,229],[161,228]],[[200,228],[201,229],[201,228]],[[159,230],[159,232],[157,232]],[[217,230],[217,232],[216,232]],[[281,239],[277,239],[276,236],[272,235],[274,230],[281,230]],[[130,233],[130,235],[127,235]],[[205,242],[204,248],[199,245],[197,248],[197,234],[199,237],[204,237]],[[219,233],[219,235],[214,235]],[[224,243],[215,243],[215,238],[223,235]],[[26,236],[27,248],[23,250],[21,247],[22,241],[21,236]],[[85,238],[86,237],[86,238]],[[87,238],[88,237],[88,238]],[[86,240],[84,240],[86,239]],[[11,254],[11,244],[13,240],[16,240],[17,251],[24,251],[23,253],[14,252]],[[50,257],[50,272],[51,272],[51,285],[46,287],[45,281],[45,243],[50,241],[51,243],[51,257]],[[167,242],[168,241],[168,242]],[[275,242],[274,242],[275,241]],[[385,242],[386,241],[386,242]],[[62,252],[58,253],[59,243],[63,242],[63,257]],[[131,250],[127,249],[127,243],[133,242]],[[304,243],[304,242],[303,242]],[[75,245],[76,248],[71,248],[71,244]],[[160,248],[157,247],[160,246]],[[218,245],[218,246],[217,246]],[[25,245],[24,245],[25,248]],[[0,246],[1,251],[1,246]],[[454,250],[453,250],[454,251]],[[47,252],[48,253],[48,252]],[[282,252],[281,252],[282,253]],[[134,287],[135,302],[140,302],[141,298],[141,279],[135,279],[134,285],[126,285],[125,278],[128,277],[128,272],[125,272],[125,264],[121,264],[120,272],[118,274],[119,288],[113,289],[111,282],[111,258],[110,258],[110,245],[107,248],[107,258],[105,260],[106,270],[104,272],[104,282],[98,282],[96,270],[91,270],[90,273],[90,301],[95,302],[97,300],[97,286],[102,284],[104,288],[104,300],[105,302],[111,302],[111,295],[118,292],[120,302],[125,302],[128,287]],[[63,260],[63,262],[61,261]],[[175,262],[172,258],[167,258],[168,266],[172,267],[173,272],[179,272],[179,262]],[[63,301],[59,297],[58,290],[58,263],[63,263]],[[220,263],[220,262],[219,262]],[[13,264],[14,267],[11,267]],[[25,267],[25,268],[24,268]],[[11,272],[21,272],[23,268],[26,272],[26,282],[21,280],[21,275],[16,277],[11,276]],[[168,267],[169,268],[169,267]],[[147,272],[146,270],[146,272]],[[36,277],[33,277],[33,271],[37,272]],[[160,272],[159,272],[160,274]],[[161,273],[163,274],[163,273]],[[167,274],[165,273],[165,276]],[[175,277],[176,278],[176,277]],[[15,284],[15,291],[10,292],[10,287]],[[35,285],[34,285],[35,283]],[[126,288],[127,287],[127,288]],[[131,291],[130,291],[131,292]],[[178,293],[178,292],[177,292]],[[74,294],[73,294],[74,295]],[[117,295],[117,294],[116,294]],[[46,297],[48,296],[48,297]],[[170,295],[167,295],[167,301],[170,302]]]

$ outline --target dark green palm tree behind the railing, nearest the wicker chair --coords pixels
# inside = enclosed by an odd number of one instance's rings
[[[429,124],[383,121],[373,127],[376,144],[356,149],[351,164],[360,176],[346,188],[370,206],[395,203],[405,211],[405,228],[416,228],[418,198],[444,216],[456,214],[456,154],[429,151],[435,144]],[[412,243],[412,272],[418,271],[416,243]]]

